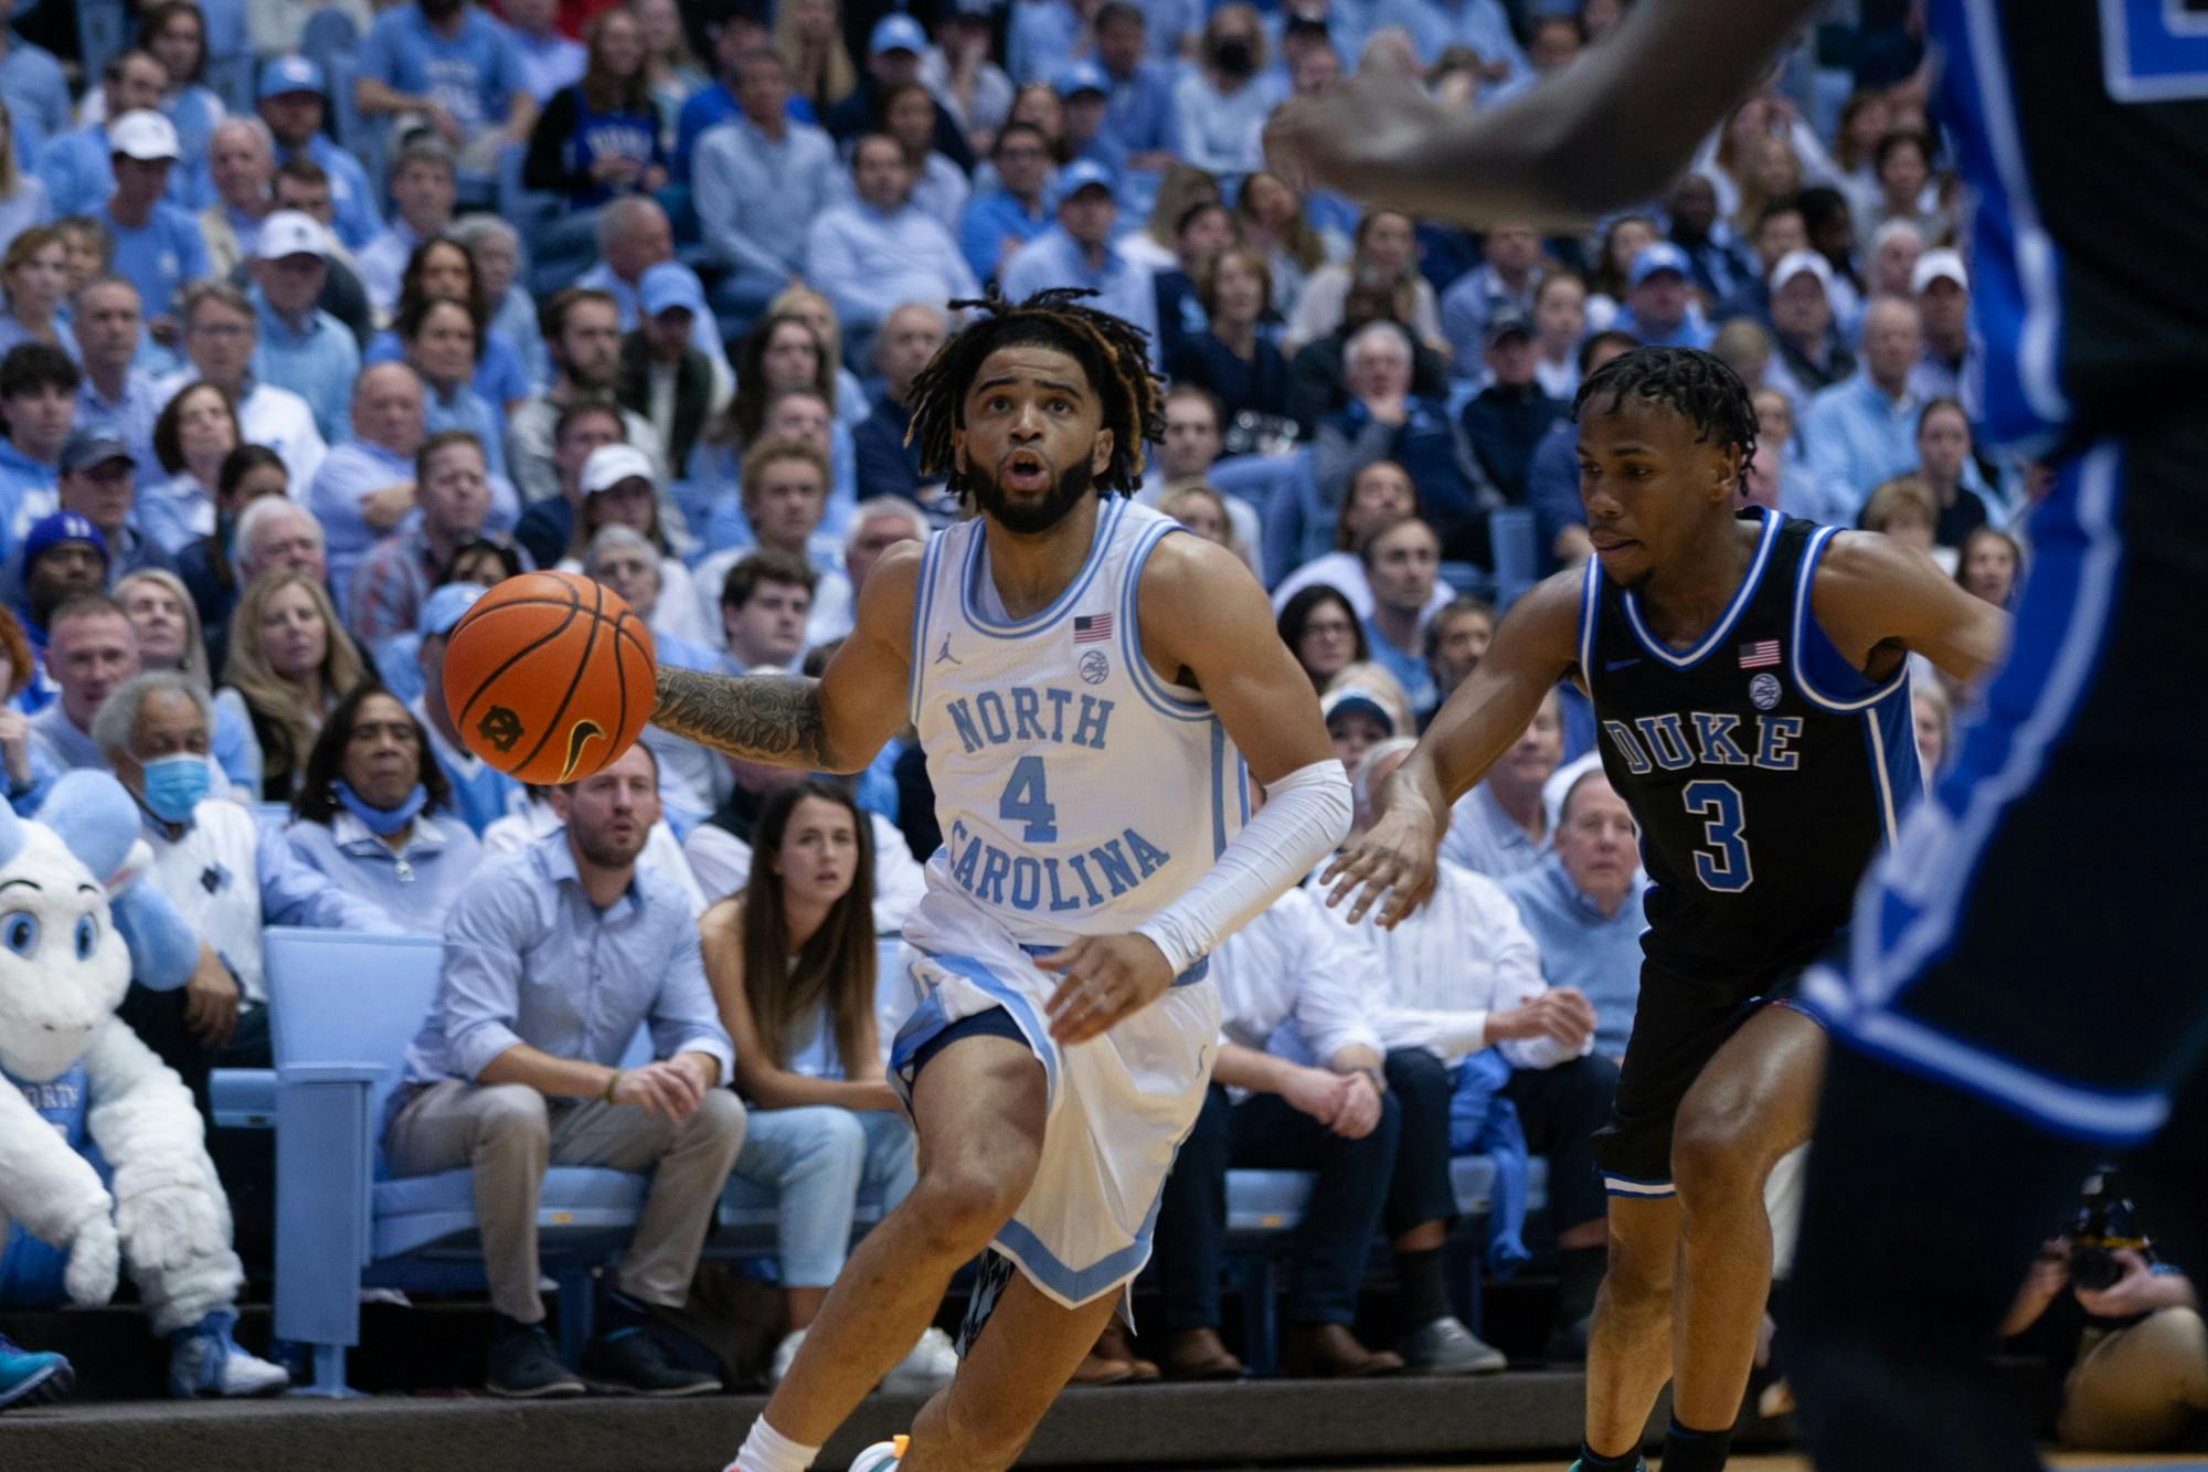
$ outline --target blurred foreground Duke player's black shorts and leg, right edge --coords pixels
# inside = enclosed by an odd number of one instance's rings
[[[1826,1468],[2034,1465],[1994,1328],[2199,1059],[2204,466],[2208,418],[2173,413],[2060,469],[2007,667],[1866,886],[1850,975],[1813,979],[1835,1059],[1788,1366]]]

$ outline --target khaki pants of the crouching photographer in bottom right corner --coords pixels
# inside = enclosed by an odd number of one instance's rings
[[[2131,1328],[2087,1335],[2062,1388],[2062,1445],[2091,1452],[2173,1448],[2208,1410],[2208,1326],[2193,1308],[2157,1308]]]

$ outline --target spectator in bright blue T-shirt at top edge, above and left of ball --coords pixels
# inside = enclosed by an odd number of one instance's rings
[[[526,144],[537,102],[512,33],[468,0],[415,0],[375,18],[360,44],[353,104],[422,128],[473,172],[492,172],[499,146]]]

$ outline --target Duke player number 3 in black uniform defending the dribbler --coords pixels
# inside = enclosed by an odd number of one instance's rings
[[[1588,378],[1574,416],[1594,561],[1519,599],[1325,882],[1351,919],[1406,915],[1451,805],[1543,694],[1572,679],[1592,696],[1654,886],[1596,1138],[1610,1273],[1581,1461],[1632,1468],[1671,1379],[1665,1472],[1696,1472],[1724,1463],[1755,1355],[1764,1176],[1815,1112],[1824,1032],[1793,988],[1919,789],[1906,661],[1970,679],[2007,621],[1881,535],[1735,513],[1755,411],[1711,354],[1634,349]]]

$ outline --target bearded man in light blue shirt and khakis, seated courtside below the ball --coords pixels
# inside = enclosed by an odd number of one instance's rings
[[[720,1390],[669,1361],[651,1315],[684,1304],[744,1143],[744,1107],[722,1087],[733,1056],[698,928],[680,891],[636,866],[658,820],[656,785],[651,754],[631,747],[574,785],[561,833],[484,869],[455,897],[437,1003],[384,1129],[393,1176],[475,1167],[495,1395],[583,1392],[543,1333],[545,1165],[651,1174],[636,1236],[601,1289],[590,1377],[634,1395]],[[654,1061],[618,1068],[647,1023]]]

